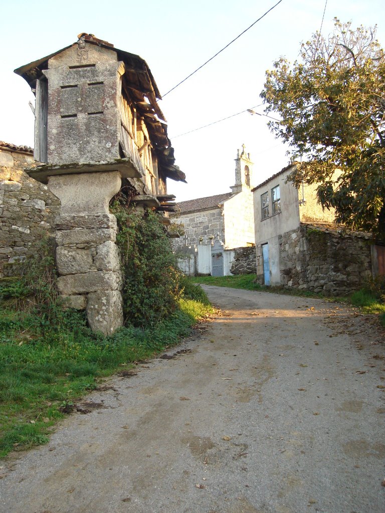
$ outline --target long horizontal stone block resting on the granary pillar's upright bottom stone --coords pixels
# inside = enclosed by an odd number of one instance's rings
[[[64,295],[84,294],[99,290],[118,290],[122,286],[120,273],[112,271],[90,271],[82,274],[67,274],[57,279],[57,288]]]

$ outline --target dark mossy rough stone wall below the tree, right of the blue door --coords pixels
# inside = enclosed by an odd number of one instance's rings
[[[371,246],[360,236],[301,225],[280,235],[279,248],[285,288],[345,295],[372,276]]]

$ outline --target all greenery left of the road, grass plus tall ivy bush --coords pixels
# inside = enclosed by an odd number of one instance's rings
[[[92,332],[84,312],[63,309],[49,240],[20,266],[20,277],[0,280],[0,457],[47,442],[55,422],[100,378],[176,344],[213,312],[200,287],[183,277],[179,282],[155,218],[151,212],[125,218],[132,224],[126,223],[121,242],[130,241],[124,258],[135,274],[126,271],[125,312],[132,308],[136,326],[126,322],[111,337]],[[158,242],[145,242],[158,236]]]

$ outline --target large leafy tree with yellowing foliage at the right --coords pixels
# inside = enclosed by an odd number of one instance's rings
[[[266,71],[269,127],[288,143],[290,179],[319,184],[318,200],[336,223],[385,237],[385,56],[376,27],[352,30],[335,18],[327,39],[302,43],[293,66],[281,57]],[[340,173],[336,173],[340,170]]]

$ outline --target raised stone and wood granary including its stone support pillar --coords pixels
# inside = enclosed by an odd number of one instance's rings
[[[161,99],[146,62],[92,34],[15,70],[36,96],[28,169],[61,202],[55,221],[58,287],[92,329],[122,325],[117,221],[109,202],[122,187],[138,207],[172,210],[175,165]]]

